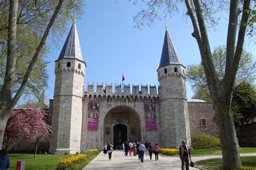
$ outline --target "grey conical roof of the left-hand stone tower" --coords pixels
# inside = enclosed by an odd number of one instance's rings
[[[75,58],[83,61],[75,19],[69,31],[69,35],[66,38],[62,51],[59,54],[58,60],[62,58]]]

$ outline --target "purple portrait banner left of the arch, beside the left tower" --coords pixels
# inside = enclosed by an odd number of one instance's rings
[[[99,101],[89,101],[87,130],[98,131],[99,122]]]

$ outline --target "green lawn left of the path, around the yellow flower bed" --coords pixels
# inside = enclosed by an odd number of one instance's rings
[[[83,162],[82,165],[78,165],[77,169],[82,169],[85,165],[89,164],[89,162],[94,159],[98,153],[95,152],[88,152],[86,153],[86,161]],[[25,169],[56,169],[58,165],[59,158],[68,158],[71,155],[65,154],[37,154],[36,159],[34,158],[33,153],[10,153],[10,168],[9,169],[16,169],[17,161],[25,161]],[[82,166],[82,167],[81,167]]]

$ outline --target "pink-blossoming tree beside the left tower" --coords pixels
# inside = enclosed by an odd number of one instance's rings
[[[4,131],[3,148],[10,151],[21,140],[31,143],[45,140],[51,131],[45,123],[47,114],[48,111],[35,108],[12,110]]]

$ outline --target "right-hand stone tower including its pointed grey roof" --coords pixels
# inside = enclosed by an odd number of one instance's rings
[[[160,84],[161,147],[178,147],[181,140],[186,140],[190,145],[185,69],[166,25],[160,65],[157,69]]]

